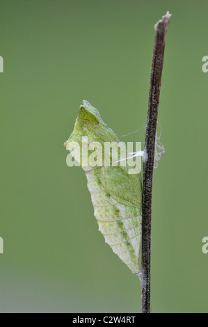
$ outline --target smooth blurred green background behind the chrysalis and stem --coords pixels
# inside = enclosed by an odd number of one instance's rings
[[[207,312],[207,1],[0,1],[1,312],[138,312],[63,142],[83,99],[144,141],[154,24],[168,28],[154,170],[152,312]]]

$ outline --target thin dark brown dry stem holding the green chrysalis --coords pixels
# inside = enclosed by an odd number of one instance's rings
[[[151,216],[152,216],[152,177],[154,168],[154,147],[157,128],[157,113],[163,69],[163,55],[166,31],[170,21],[166,13],[154,26],[154,50],[150,79],[147,125],[145,134],[145,157],[143,163],[143,221],[142,221],[142,262],[141,262],[141,312],[150,313],[150,256],[151,256]]]

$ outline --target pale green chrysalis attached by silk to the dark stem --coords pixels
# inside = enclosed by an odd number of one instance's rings
[[[101,156],[102,163],[97,160],[94,165],[92,160],[90,163],[90,159],[93,155],[92,145],[95,144],[97,149],[94,159]],[[90,149],[87,152],[83,149],[86,146]],[[115,159],[118,161],[122,153],[119,140],[112,129],[103,122],[97,109],[85,100],[79,107],[74,131],[65,142],[65,147],[86,172],[99,231],[113,252],[133,273],[138,273],[141,244],[141,173],[138,170],[137,174],[129,174],[128,164],[124,166],[121,162],[113,166]],[[106,165],[104,163],[108,147],[111,147],[112,151],[108,152],[110,164]],[[113,154],[114,150],[118,152],[117,158]]]

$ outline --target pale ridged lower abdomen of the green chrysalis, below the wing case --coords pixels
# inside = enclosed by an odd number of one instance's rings
[[[132,273],[138,273],[138,257],[141,245],[141,211],[132,203],[123,201],[102,186],[97,178],[102,170],[86,171],[88,189],[94,207],[95,218],[104,239],[114,253],[127,264]]]

